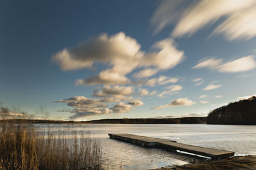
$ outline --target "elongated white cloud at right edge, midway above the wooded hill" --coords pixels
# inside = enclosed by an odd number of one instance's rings
[[[223,73],[239,73],[250,71],[256,67],[256,61],[254,60],[253,55],[249,55],[246,57],[241,57],[236,60],[232,60],[230,62],[226,62],[223,64],[223,59],[216,59],[213,57],[211,59],[202,59],[199,60],[196,66],[192,67],[192,69],[199,69],[202,67],[208,69],[214,69]]]

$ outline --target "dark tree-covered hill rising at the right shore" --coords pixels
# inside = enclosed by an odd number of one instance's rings
[[[212,110],[207,124],[256,125],[256,97]]]

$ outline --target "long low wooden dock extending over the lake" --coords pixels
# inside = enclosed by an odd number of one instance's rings
[[[117,139],[119,141],[125,141],[134,145],[143,146],[146,148],[160,148],[169,152],[189,152],[196,155],[202,155],[205,157],[211,157],[212,159],[223,159],[234,156],[234,152],[226,150],[218,150],[212,148],[205,148],[200,146],[186,145],[177,143],[167,139],[150,138],[146,136],[138,136],[134,134],[108,134],[109,138]]]

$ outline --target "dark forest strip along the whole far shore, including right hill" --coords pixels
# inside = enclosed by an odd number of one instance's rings
[[[228,124],[256,125],[256,97],[229,103],[210,111],[207,117],[109,118],[89,121],[10,119],[0,123],[25,124]]]

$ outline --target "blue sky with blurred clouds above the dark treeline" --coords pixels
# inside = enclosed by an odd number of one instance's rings
[[[256,94],[256,1],[1,1],[0,116],[206,116]]]

